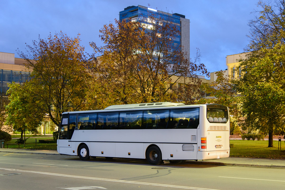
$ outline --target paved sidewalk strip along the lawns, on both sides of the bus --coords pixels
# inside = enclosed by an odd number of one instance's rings
[[[15,148],[1,148],[0,152],[7,153],[21,153],[21,154],[46,154],[46,155],[60,155],[56,150],[30,150],[30,149],[15,149]],[[266,158],[221,158],[217,160],[186,160],[187,164],[208,164],[208,165],[223,165],[223,166],[253,166],[253,167],[277,167],[285,168],[285,160],[282,159],[266,159]]]

